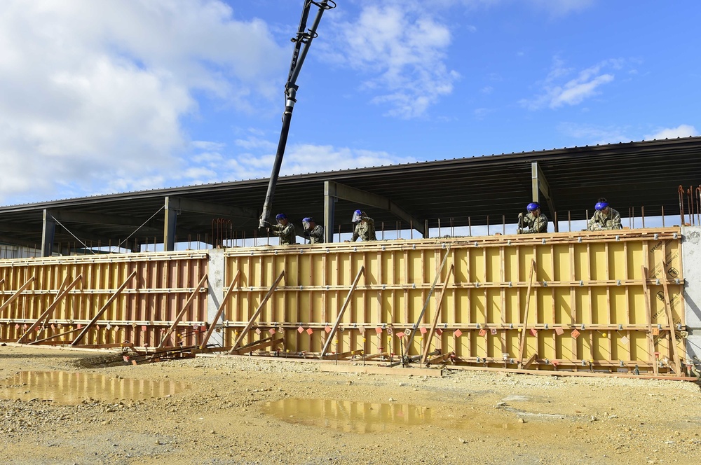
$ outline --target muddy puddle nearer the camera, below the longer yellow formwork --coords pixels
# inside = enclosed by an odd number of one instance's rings
[[[440,426],[450,429],[474,429],[477,426],[474,418],[442,417],[430,408],[406,403],[286,398],[266,403],[264,410],[268,415],[283,422],[355,433],[396,431],[416,426]],[[479,424],[479,427],[509,430],[522,426],[516,421]]]

